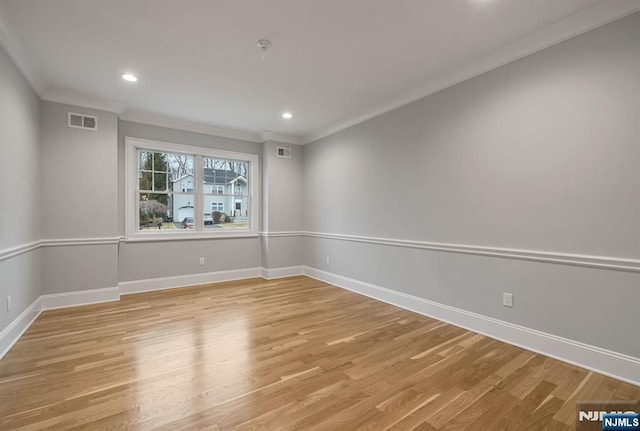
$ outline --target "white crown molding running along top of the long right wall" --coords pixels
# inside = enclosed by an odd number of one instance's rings
[[[574,15],[558,20],[547,27],[517,39],[486,55],[465,62],[454,69],[444,70],[433,76],[428,76],[422,87],[400,95],[382,106],[372,107],[340,124],[306,135],[303,137],[302,142],[306,145],[341,132],[349,127],[393,111],[638,10],[640,10],[640,2],[636,0],[600,1]]]

